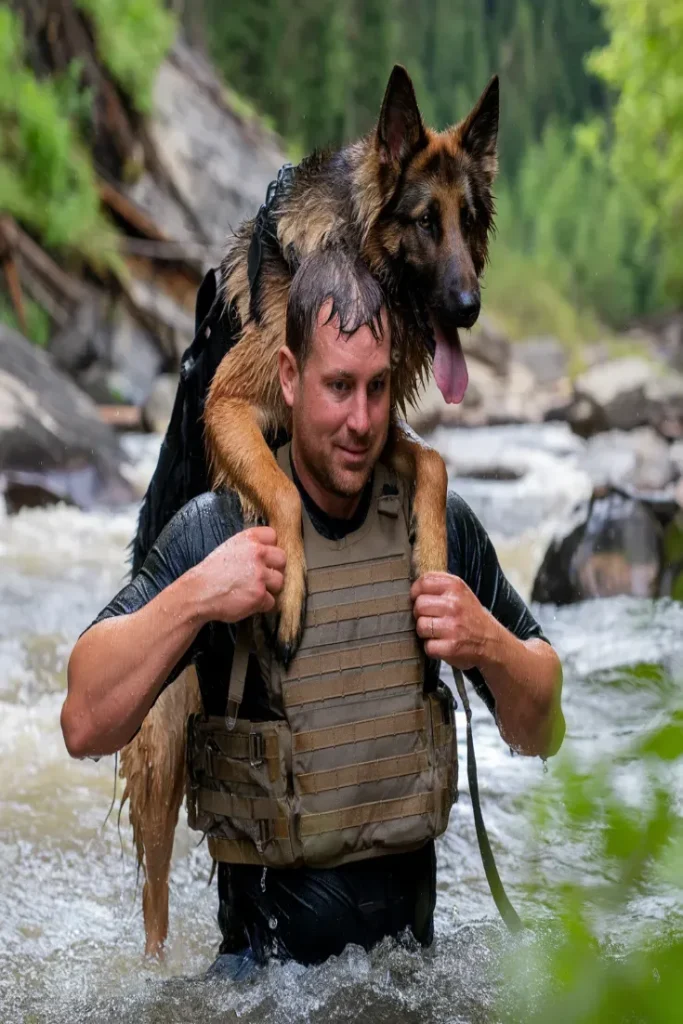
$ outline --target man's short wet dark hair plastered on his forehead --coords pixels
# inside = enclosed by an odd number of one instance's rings
[[[342,247],[310,253],[294,275],[287,303],[287,347],[299,369],[310,354],[319,311],[330,300],[325,323],[337,318],[340,334],[369,327],[378,341],[382,337],[384,292],[362,260]]]

